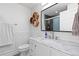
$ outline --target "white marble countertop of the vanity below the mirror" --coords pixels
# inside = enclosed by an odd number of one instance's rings
[[[65,40],[45,39],[40,37],[31,37],[30,39],[36,40],[39,43],[47,45],[51,48],[53,47],[72,56],[79,55],[79,43]]]

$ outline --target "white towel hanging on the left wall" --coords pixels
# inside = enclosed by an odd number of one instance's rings
[[[12,36],[12,27],[6,23],[0,23],[0,46],[11,44]]]

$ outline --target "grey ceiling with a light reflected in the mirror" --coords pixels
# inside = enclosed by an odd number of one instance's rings
[[[67,10],[67,3],[58,3],[43,11],[43,14],[48,16],[58,15],[59,12]]]

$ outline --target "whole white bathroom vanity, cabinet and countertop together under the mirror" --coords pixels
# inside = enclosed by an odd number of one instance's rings
[[[54,40],[47,38],[31,37],[30,55],[31,56],[78,56],[79,43]]]

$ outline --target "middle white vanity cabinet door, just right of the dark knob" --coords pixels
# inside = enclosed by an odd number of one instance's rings
[[[41,44],[36,43],[36,55],[37,56],[49,56],[50,54],[50,48]]]

